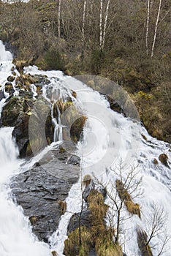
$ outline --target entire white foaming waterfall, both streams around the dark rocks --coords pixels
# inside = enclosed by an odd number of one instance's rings
[[[5,56],[5,61],[1,59],[3,63],[0,71],[0,82],[3,85],[5,80],[7,80],[7,76],[10,75],[12,64],[11,59],[8,59],[5,55],[2,44],[0,44],[0,47],[0,56],[2,56],[1,51]],[[51,86],[53,86],[54,100],[47,97],[45,93],[46,89],[43,94],[47,100],[52,100],[52,104],[58,99],[55,95],[57,91],[59,93],[61,92],[59,97],[62,97],[65,91],[68,94],[71,94],[72,90],[76,91],[77,99],[75,99],[75,105],[77,105],[77,108],[82,109],[86,116],[88,116],[86,127],[84,128],[83,142],[79,143],[77,148],[77,154],[83,159],[81,168],[82,176],[88,173],[95,175],[104,183],[109,180],[115,181],[115,174],[110,170],[110,167],[115,167],[121,159],[127,167],[131,164],[137,165],[139,163],[137,168],[139,170],[139,176],[142,176],[144,196],[137,199],[136,203],[140,203],[142,219],[140,220],[135,216],[126,220],[126,224],[123,224],[125,226],[123,228],[126,229],[125,237],[123,237],[126,238],[124,244],[126,255],[139,255],[135,229],[137,225],[140,227],[147,225],[146,219],[149,219],[151,216],[153,202],[163,206],[164,211],[168,214],[168,219],[171,219],[170,169],[160,162],[157,166],[153,164],[153,159],[158,159],[162,153],[167,154],[170,159],[168,144],[151,138],[139,123],[129,118],[124,118],[121,114],[110,110],[108,102],[99,93],[88,88],[88,86],[80,81],[74,78],[68,78],[62,72],[39,71],[37,67],[26,67],[25,72],[47,75]],[[4,99],[0,102],[0,106],[3,104]],[[60,127],[62,125],[61,121]],[[142,138],[141,133],[146,136],[147,141]],[[15,147],[11,134],[12,128],[0,129],[0,160],[3,163],[0,167],[0,222],[2,223],[0,225],[0,255],[47,256],[54,249],[61,256],[63,255],[62,252],[69,218],[75,212],[80,211],[80,181],[72,186],[66,198],[67,211],[61,217],[58,230],[49,239],[51,248],[38,242],[31,234],[28,219],[23,216],[20,207],[15,206],[10,197],[9,178],[11,175],[21,171],[20,161],[17,159],[18,149]],[[67,150],[67,148],[65,149]],[[33,162],[31,162],[31,165]],[[27,169],[28,165],[24,165],[24,168]],[[111,203],[109,198],[106,199],[106,203]],[[170,232],[170,229],[171,224],[167,222],[167,231]],[[156,237],[154,242],[161,244],[159,237]],[[153,255],[157,255],[156,250],[153,250]],[[169,249],[164,253],[164,256],[170,256]]]

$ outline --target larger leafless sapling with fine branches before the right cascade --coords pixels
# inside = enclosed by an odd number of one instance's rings
[[[118,244],[120,235],[124,232],[121,225],[128,218],[126,217],[126,209],[131,216],[132,214],[137,214],[140,217],[140,207],[137,203],[133,202],[133,199],[142,195],[140,189],[141,178],[137,178],[139,171],[134,166],[130,167],[126,175],[123,175],[125,172],[123,172],[122,163],[115,170],[111,170],[118,177],[115,182],[109,181],[107,184],[98,182],[104,187],[107,197],[110,198],[111,203],[107,219],[110,222],[110,227],[113,227],[112,230],[115,230],[113,236],[115,243]]]

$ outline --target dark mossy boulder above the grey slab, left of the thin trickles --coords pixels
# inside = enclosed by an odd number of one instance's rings
[[[31,125],[33,135],[32,147],[37,148],[37,152],[42,150],[47,144],[53,142],[53,123],[50,116],[50,104],[45,99],[39,99],[39,104],[35,105],[35,99],[29,91],[20,90],[19,97],[9,97],[4,105],[1,113],[1,125],[7,127],[15,127],[12,136],[15,138],[20,151],[20,157],[30,157],[31,151],[29,140],[29,121],[31,118]],[[36,130],[42,130],[45,133],[45,140],[38,140]]]

